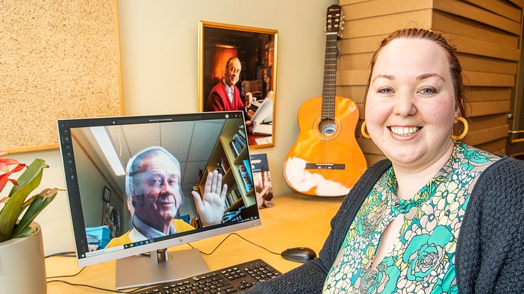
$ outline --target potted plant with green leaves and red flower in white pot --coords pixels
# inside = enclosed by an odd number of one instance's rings
[[[46,162],[34,159],[27,166],[3,158],[5,154],[0,152],[0,195],[4,188],[12,187],[6,196],[0,196],[0,284],[6,293],[46,293],[44,245],[41,229],[33,220],[60,189],[44,189],[30,196],[40,185]]]

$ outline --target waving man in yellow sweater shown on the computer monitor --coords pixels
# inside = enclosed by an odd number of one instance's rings
[[[222,221],[227,185],[222,175],[209,173],[204,197],[192,192],[202,225]],[[195,229],[176,219],[182,205],[181,168],[178,160],[163,147],[148,147],[129,159],[126,167],[126,194],[133,229],[112,239],[105,248]]]

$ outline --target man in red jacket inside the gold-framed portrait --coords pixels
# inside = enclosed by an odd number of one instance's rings
[[[238,82],[240,71],[242,71],[242,64],[236,57],[228,59],[225,63],[225,72],[222,81],[216,84],[211,89],[211,93],[207,97],[206,111],[208,112],[223,112],[232,110],[244,110],[251,106],[253,95],[246,93],[246,105],[240,99],[240,91],[235,83]]]

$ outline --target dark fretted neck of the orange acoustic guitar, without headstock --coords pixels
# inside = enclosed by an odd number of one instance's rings
[[[322,86],[322,119],[334,119],[335,117],[336,40],[336,32],[328,32],[326,34],[324,83]]]

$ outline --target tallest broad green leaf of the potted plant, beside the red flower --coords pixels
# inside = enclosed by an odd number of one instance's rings
[[[38,173],[30,177],[29,182],[25,181],[24,185],[18,186],[14,192],[11,190],[9,200],[6,205],[0,211],[0,243],[11,239],[11,233],[13,232],[13,227],[15,227],[16,220],[18,215],[22,213],[22,205],[34,189],[40,185],[42,180],[43,166],[37,169]],[[22,175],[24,175],[27,169]],[[34,173],[34,170],[31,170],[31,175]],[[20,175],[21,177],[21,175]]]

